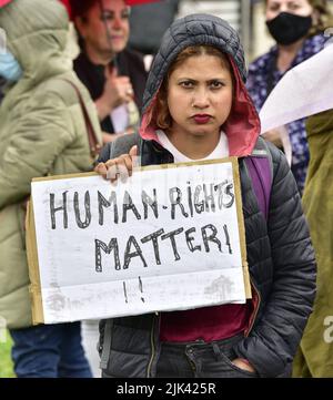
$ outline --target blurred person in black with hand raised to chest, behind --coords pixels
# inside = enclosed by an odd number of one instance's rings
[[[81,53],[74,71],[95,102],[103,141],[131,132],[147,80],[142,55],[127,49],[130,8],[124,0],[72,0]]]

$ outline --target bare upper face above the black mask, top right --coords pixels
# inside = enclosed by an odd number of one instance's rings
[[[307,0],[268,0],[266,20],[270,21],[281,12],[289,12],[300,17],[309,17],[313,12]]]

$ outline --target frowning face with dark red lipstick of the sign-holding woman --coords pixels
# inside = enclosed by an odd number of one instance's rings
[[[230,114],[232,98],[232,76],[226,62],[216,55],[188,58],[169,78],[171,133],[216,134]]]

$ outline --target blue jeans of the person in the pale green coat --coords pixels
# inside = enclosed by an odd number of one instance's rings
[[[11,329],[18,378],[91,378],[80,322]]]

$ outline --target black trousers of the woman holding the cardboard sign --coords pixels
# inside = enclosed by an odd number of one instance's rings
[[[236,358],[233,347],[243,335],[212,341],[162,342],[158,361],[158,378],[258,378],[231,361]]]

